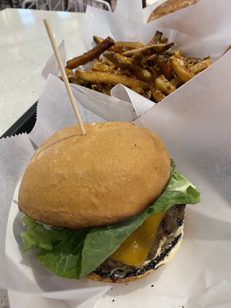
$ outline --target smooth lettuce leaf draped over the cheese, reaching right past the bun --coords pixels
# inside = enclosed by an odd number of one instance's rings
[[[178,185],[176,185],[177,178],[180,180]],[[186,186],[187,188],[185,188]],[[80,277],[86,276],[99,266],[151,214],[163,213],[174,204],[199,203],[201,201],[200,193],[194,187],[181,173],[173,172],[164,192],[141,215],[110,227],[92,228],[83,244]]]

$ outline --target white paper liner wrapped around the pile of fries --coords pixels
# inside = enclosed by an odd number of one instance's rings
[[[154,3],[152,8],[156,7],[158,3]],[[230,6],[231,4],[227,0],[221,0],[218,7],[217,0],[204,0],[148,24],[143,23],[147,8],[142,10],[141,0],[118,0],[115,13],[88,6],[83,25],[83,43],[86,50],[90,50],[95,46],[93,35],[102,38],[110,35],[115,41],[140,41],[147,44],[156,30],[160,30],[163,32],[163,36],[168,37],[169,42],[174,41],[177,44],[177,48],[181,49],[184,55],[201,57],[202,59],[210,55],[214,63],[231,42],[231,31],[228,31],[230,29]],[[76,46],[76,50],[78,50],[78,46]],[[64,41],[60,44],[59,51],[65,64]],[[72,55],[73,58],[76,56],[77,53]],[[79,69],[88,70],[90,67],[91,65],[87,63]],[[42,72],[45,79],[49,74],[56,77],[60,75],[55,55],[51,56]],[[124,119],[134,120],[155,105],[152,101],[123,85],[114,87],[111,97],[81,86],[71,84],[71,87],[75,89],[75,97],[78,96],[79,103],[83,103],[83,106],[89,111],[101,116],[102,109],[106,108],[107,114],[104,115],[106,120],[112,120],[114,114],[114,120],[117,120],[117,115],[120,118],[125,113]],[[184,91],[184,85],[180,89]],[[171,96],[167,96],[165,100],[170,103]],[[130,109],[131,102],[136,106],[132,110]],[[128,117],[127,114],[129,114]]]

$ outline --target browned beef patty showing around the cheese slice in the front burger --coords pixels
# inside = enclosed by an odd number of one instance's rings
[[[167,210],[164,218],[162,219],[156,233],[156,238],[150,249],[147,258],[145,261],[152,259],[157,252],[160,240],[164,236],[170,236],[172,233],[176,232],[177,227],[183,224],[184,220],[184,209],[185,204],[176,204],[173,205],[170,209]],[[177,242],[177,241],[176,241]],[[123,272],[126,272],[126,277],[136,276],[137,267],[124,264],[122,262],[116,261],[111,257],[108,257],[101,265],[95,269],[95,274],[98,274],[101,278],[105,279],[110,277],[112,282],[115,281],[111,271],[113,269],[123,269]],[[118,271],[117,270],[117,271]],[[125,277],[124,277],[125,278]]]

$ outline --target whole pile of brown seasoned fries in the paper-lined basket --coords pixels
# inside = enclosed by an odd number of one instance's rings
[[[67,61],[65,72],[70,83],[111,95],[111,89],[121,83],[156,103],[176,88],[209,67],[210,56],[201,59],[185,57],[176,44],[156,31],[146,45],[139,42],[115,42],[94,35],[97,44],[92,50]],[[100,57],[100,55],[103,54]],[[72,69],[96,59],[89,71]],[[59,79],[63,80],[62,77]]]

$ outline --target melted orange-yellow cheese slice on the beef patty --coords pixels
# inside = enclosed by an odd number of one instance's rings
[[[146,259],[154,243],[157,229],[165,215],[152,214],[110,256],[124,264],[139,266]]]

